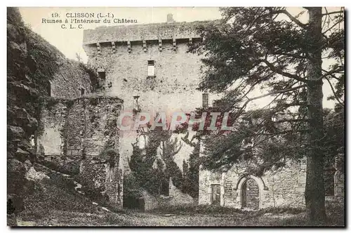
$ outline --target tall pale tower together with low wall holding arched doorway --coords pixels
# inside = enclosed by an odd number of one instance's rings
[[[208,95],[197,91],[201,57],[187,53],[189,44],[201,41],[194,27],[206,22],[167,22],[149,25],[98,27],[84,31],[88,65],[98,70],[98,92],[119,96],[124,111],[192,112],[208,105]],[[120,153],[131,157],[136,134],[120,132]],[[190,137],[192,135],[190,134]],[[176,162],[181,167],[192,147],[183,143]],[[124,161],[126,164],[126,161]],[[235,208],[304,205],[305,164],[290,164],[263,177],[243,175],[244,168],[215,174],[199,173],[199,204]],[[174,192],[173,192],[174,193]]]

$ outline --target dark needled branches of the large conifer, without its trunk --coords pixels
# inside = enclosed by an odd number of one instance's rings
[[[343,9],[324,16],[324,34],[317,45],[306,32],[308,24],[298,20],[303,11],[291,15],[285,8],[221,10],[223,20],[199,27],[204,43],[190,48],[190,52],[204,55],[199,89],[224,93],[213,108],[231,112],[234,126],[230,133],[202,133],[208,155],[205,167],[227,169],[244,160],[260,164],[260,173],[284,166],[286,157],[300,159],[308,132],[307,51],[319,51],[332,63],[320,79],[336,80],[331,99],[343,107],[345,51],[340,39],[344,31],[331,23],[343,22]],[[282,15],[284,20],[278,20]],[[257,95],[260,90],[265,93]],[[267,96],[272,97],[267,105],[247,110],[250,102]]]

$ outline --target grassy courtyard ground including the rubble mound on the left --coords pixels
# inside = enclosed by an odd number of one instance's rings
[[[37,167],[39,169],[39,167]],[[48,169],[47,169],[48,170]],[[44,170],[43,170],[44,171]],[[23,226],[310,226],[305,210],[289,206],[259,211],[186,204],[148,212],[117,208],[77,191],[74,180],[57,172],[34,180],[25,211],[8,215],[8,225]],[[343,226],[343,206],[327,206],[326,226]]]

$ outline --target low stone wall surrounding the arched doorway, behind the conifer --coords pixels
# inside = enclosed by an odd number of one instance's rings
[[[245,166],[234,166],[230,171],[222,174],[200,171],[199,204],[211,204],[211,185],[219,184],[220,205],[242,208],[242,188],[247,180],[252,179],[259,187],[259,208],[305,206],[305,161],[287,161],[284,168],[269,171],[262,177],[245,174],[245,168]]]

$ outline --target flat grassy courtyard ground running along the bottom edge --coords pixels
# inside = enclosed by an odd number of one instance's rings
[[[182,213],[172,209],[166,212],[156,210],[148,213],[137,211],[115,213],[102,208],[97,208],[93,213],[49,210],[45,214],[23,213],[21,219],[25,223],[33,221],[37,226],[311,226],[304,218],[305,213],[284,208],[267,211],[233,210],[230,213],[213,213],[213,211]],[[343,226],[341,215],[329,213],[329,216],[332,218],[329,217],[329,222],[323,225]]]

